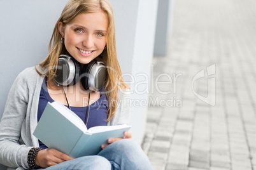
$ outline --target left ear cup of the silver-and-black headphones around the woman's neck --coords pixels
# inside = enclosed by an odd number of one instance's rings
[[[59,86],[73,86],[79,81],[81,66],[73,57],[60,55],[53,81]]]

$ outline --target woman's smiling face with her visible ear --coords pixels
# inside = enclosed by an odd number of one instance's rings
[[[59,22],[68,53],[78,62],[87,64],[99,56],[106,46],[108,18],[104,12],[82,13],[65,26]]]

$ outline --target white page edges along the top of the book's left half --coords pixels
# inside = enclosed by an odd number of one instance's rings
[[[78,115],[72,112],[72,110],[69,110],[68,107],[62,105],[62,103],[60,103],[59,101],[53,101],[52,103],[50,103],[50,105],[52,105],[52,107],[58,110],[60,114],[64,115],[64,117],[66,117],[70,122],[75,124],[75,126],[81,129],[83,132],[87,131],[87,127],[85,126],[85,123],[82,121],[82,119],[80,119]]]

